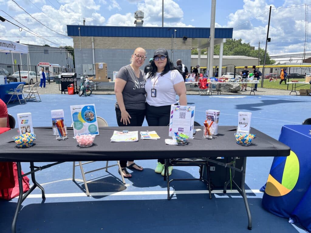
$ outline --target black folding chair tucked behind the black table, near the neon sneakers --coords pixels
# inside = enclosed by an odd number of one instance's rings
[[[194,121],[194,126],[201,126],[197,121]],[[168,166],[198,166],[200,167],[199,172],[200,172],[200,178],[193,178],[193,179],[171,179],[169,180],[168,176]],[[206,166],[206,171],[207,171],[207,180],[203,178],[203,166]],[[181,158],[181,159],[165,159],[165,166],[164,166],[164,180],[166,179],[167,181],[167,199],[170,199],[169,195],[169,183],[174,181],[174,180],[202,180],[207,183],[208,187],[208,193],[209,193],[209,198],[211,199],[211,183],[210,183],[210,173],[209,173],[209,165],[208,162],[200,159],[200,158]]]

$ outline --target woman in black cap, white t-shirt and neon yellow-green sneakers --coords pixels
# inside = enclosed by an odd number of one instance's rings
[[[146,78],[146,120],[148,126],[168,126],[172,104],[187,105],[186,86],[183,76],[169,60],[165,48],[158,48],[153,55],[153,61]],[[169,166],[169,175],[173,170]],[[158,159],[156,173],[164,176],[164,159]]]

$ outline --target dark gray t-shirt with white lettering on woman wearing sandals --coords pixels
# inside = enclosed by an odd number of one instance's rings
[[[127,65],[123,66],[116,75],[116,78],[120,78],[126,81],[122,92],[125,109],[146,108],[144,71],[139,71],[140,75],[139,77],[136,77],[132,67]],[[118,107],[118,103],[116,103],[116,107]]]

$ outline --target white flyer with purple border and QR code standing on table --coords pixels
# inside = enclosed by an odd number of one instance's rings
[[[194,109],[195,106],[171,105],[169,136],[178,132],[193,139]]]

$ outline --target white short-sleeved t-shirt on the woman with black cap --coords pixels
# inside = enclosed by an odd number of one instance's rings
[[[174,85],[183,82],[183,76],[177,70],[169,71],[161,76],[146,77],[146,102],[151,106],[165,106],[177,103]],[[151,97],[151,89],[156,89],[156,97]]]

